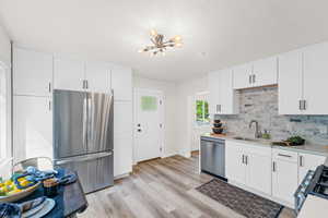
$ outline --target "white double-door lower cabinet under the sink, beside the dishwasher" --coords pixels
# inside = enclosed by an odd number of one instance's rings
[[[271,148],[226,141],[225,150],[229,180],[271,194]]]

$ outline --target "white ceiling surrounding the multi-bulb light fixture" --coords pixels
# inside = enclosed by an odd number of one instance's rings
[[[0,21],[17,44],[179,82],[327,40],[327,0],[0,0]],[[138,53],[151,28],[181,35],[183,48]]]

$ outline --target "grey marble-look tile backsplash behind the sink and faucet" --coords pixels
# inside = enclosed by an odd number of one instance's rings
[[[215,116],[226,126],[226,132],[253,136],[257,120],[260,131],[267,130],[272,140],[301,135],[308,143],[328,145],[328,116],[279,116],[278,87],[260,87],[239,92],[239,114]]]

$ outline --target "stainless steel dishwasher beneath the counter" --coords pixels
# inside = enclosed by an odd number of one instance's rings
[[[200,137],[200,167],[202,172],[225,179],[225,141]]]

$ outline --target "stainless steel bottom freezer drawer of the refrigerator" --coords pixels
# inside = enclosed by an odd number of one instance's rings
[[[55,165],[75,171],[84,193],[114,185],[112,152],[56,160]]]

